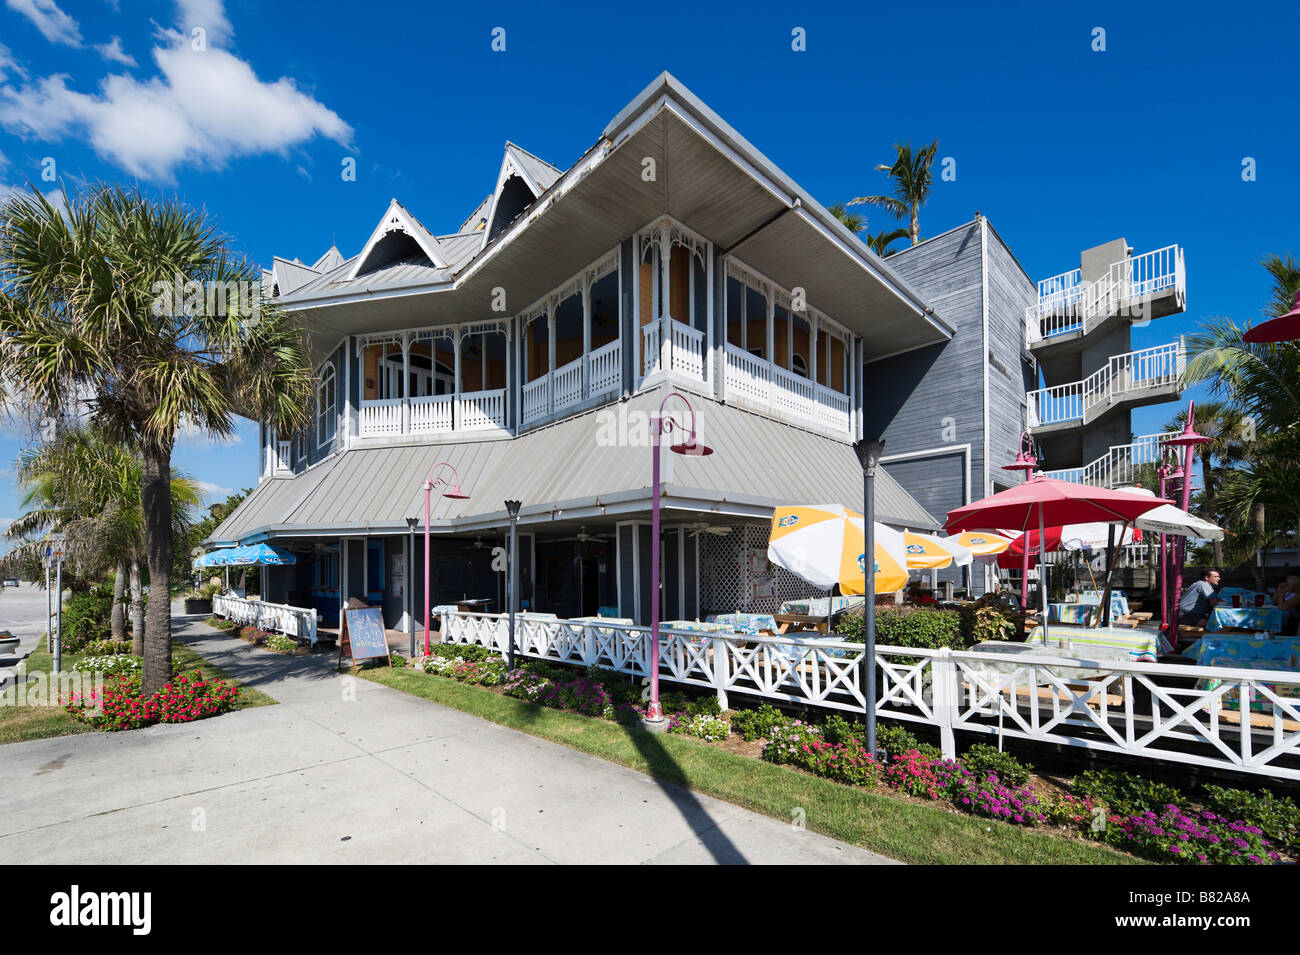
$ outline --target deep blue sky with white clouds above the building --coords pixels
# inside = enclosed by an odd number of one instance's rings
[[[957,179],[936,182],[923,234],[979,210],[1034,278],[1119,235],[1184,246],[1187,313],[1136,329],[1136,348],[1257,316],[1258,260],[1300,253],[1294,8],[1039,6],[3,0],[0,192],[52,188],[52,161],[73,187],[176,192],[264,265],[332,242],[352,255],[393,196],[434,231],[459,226],[506,139],[567,168],[667,69],[828,204],[884,191],[872,166],[892,144],[937,136]],[[1139,411],[1135,433],[1173,411]],[[220,499],[256,482],[256,427],[238,439],[186,438],[176,463]],[[0,522],[18,512],[3,472],[21,447],[0,434]]]

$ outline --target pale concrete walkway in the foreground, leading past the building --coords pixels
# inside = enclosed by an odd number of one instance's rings
[[[889,861],[200,621],[280,706],[0,747],[0,863]]]

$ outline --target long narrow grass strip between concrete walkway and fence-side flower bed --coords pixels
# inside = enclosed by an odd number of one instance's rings
[[[1141,861],[1082,839],[910,803],[883,789],[845,786],[689,737],[633,730],[413,669],[369,667],[361,676],[754,812],[789,821],[802,808],[809,829],[906,863]]]

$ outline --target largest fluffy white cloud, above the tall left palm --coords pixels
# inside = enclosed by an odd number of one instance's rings
[[[317,135],[351,142],[351,126],[292,79],[264,82],[224,49],[191,49],[172,31],[161,35],[153,60],[157,77],[109,75],[98,94],[73,90],[65,74],[0,87],[0,126],[44,142],[84,135],[127,173],[164,181],[181,165],[221,168],[239,156],[285,153]]]

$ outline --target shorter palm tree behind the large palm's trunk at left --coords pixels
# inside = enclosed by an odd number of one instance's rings
[[[110,631],[126,639],[125,594],[131,590],[131,642],[140,654],[144,641],[144,516],[140,509],[139,455],[92,427],[73,427],[18,460],[18,482],[26,486],[30,508],[5,531],[23,539],[46,531],[68,537],[72,555],[92,576],[113,570]],[[173,533],[183,534],[200,500],[199,486],[172,472]]]

